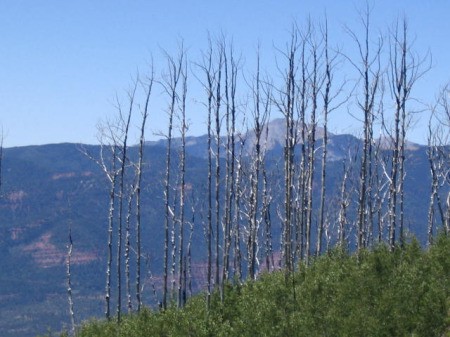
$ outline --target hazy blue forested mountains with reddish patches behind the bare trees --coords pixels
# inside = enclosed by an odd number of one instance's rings
[[[284,124],[268,124],[267,157],[273,174],[282,175]],[[319,143],[323,130],[318,132]],[[244,153],[254,146],[245,138]],[[237,137],[240,139],[240,137]],[[204,199],[207,176],[207,137],[188,137],[186,186]],[[174,139],[174,147],[180,144]],[[342,163],[349,150],[361,147],[352,135],[329,134],[327,190],[338,192]],[[320,156],[320,146],[317,156]],[[384,150],[389,150],[386,143]],[[406,225],[423,243],[429,202],[429,166],[426,146],[410,143],[407,150]],[[136,155],[132,147],[130,155]],[[163,177],[166,140],[147,142],[143,175],[143,249],[145,302],[155,305],[153,285],[161,278],[163,244]],[[176,152],[176,151],[175,151]],[[108,180],[86,153],[98,155],[100,145],[49,144],[3,150],[0,201],[0,335],[27,337],[69,324],[66,257],[69,231],[73,240],[71,281],[78,322],[102,317],[108,222]],[[133,154],[134,153],[134,154]],[[320,162],[320,160],[318,160]],[[318,184],[315,191],[318,193]],[[201,279],[205,261],[204,235],[193,235],[194,269]],[[279,231],[274,230],[277,237]],[[276,239],[278,240],[278,238]],[[151,272],[151,273],[150,273]],[[198,284],[201,288],[201,282]]]

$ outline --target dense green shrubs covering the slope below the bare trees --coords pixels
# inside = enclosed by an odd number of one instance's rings
[[[264,273],[225,291],[209,313],[199,295],[183,309],[144,309],[120,325],[88,322],[77,337],[450,336],[450,240],[427,250],[415,240],[394,252],[335,249],[288,278]]]

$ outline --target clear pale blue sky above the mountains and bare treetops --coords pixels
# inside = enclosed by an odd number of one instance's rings
[[[415,49],[433,55],[433,68],[416,87],[431,102],[450,81],[450,1],[373,0],[374,27],[386,31],[398,16],[408,19]],[[114,97],[126,90],[151,57],[176,49],[180,38],[195,58],[207,32],[233,37],[236,50],[251,59],[260,41],[273,57],[294,20],[327,13],[330,39],[350,44],[342,26],[358,29],[358,0],[4,0],[0,1],[0,123],[6,147],[59,142],[96,143],[96,125],[114,113]],[[195,61],[195,60],[194,60]],[[156,75],[160,73],[156,69]],[[156,88],[155,93],[161,92]],[[191,98],[193,99],[193,98]],[[198,99],[198,98],[197,98]],[[204,118],[192,115],[192,133]],[[332,129],[346,131],[339,118]],[[148,134],[164,129],[154,110]],[[355,123],[355,121],[349,122]],[[425,142],[426,118],[410,138]],[[148,136],[148,138],[151,138]]]

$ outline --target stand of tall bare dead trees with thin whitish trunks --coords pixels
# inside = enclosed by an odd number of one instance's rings
[[[428,241],[438,228],[448,233],[448,88],[435,105],[418,107],[411,93],[429,69],[429,59],[413,49],[406,20],[374,37],[369,11],[360,19],[360,31],[347,29],[356,50],[351,55],[331,42],[326,20],[294,24],[286,44],[275,48],[271,74],[261,66],[259,49],[254,69],[247,69],[225,37],[208,39],[198,60],[190,60],[181,44],[177,55],[164,53],[160,76],[152,68],[134,81],[125,103],[117,101],[116,117],[99,126],[101,152],[88,154],[110,186],[108,319],[114,315],[113,303],[118,321],[124,307],[140,311],[143,304],[148,270],[143,271],[141,232],[150,224],[142,221],[146,205],[141,194],[144,168],[151,172],[145,131],[152,114],[162,113],[152,108],[156,87],[167,104],[161,133],[166,144],[164,221],[151,224],[164,236],[163,246],[153,247],[163,256],[162,286],[153,289],[163,310],[173,302],[183,307],[192,296],[194,233],[201,233],[205,242],[206,310],[217,305],[214,290],[221,302],[227,301],[227,284],[253,280],[262,270],[282,269],[290,283],[299,265],[308,265],[332,246],[355,244],[358,252],[380,243],[391,250],[403,246],[407,138],[419,109],[431,116]],[[203,93],[191,97],[190,86],[200,86]],[[190,111],[194,100],[200,104]],[[203,114],[206,124],[207,174],[200,185],[186,180],[190,113]],[[362,139],[361,147],[348,149],[338,193],[333,194],[327,190],[330,114],[353,118],[352,123],[361,125]],[[268,160],[273,116],[284,121],[283,156],[275,163]],[[129,138],[136,125],[137,146]],[[137,148],[137,156],[130,156],[130,148]],[[70,281],[70,268],[68,276]]]

